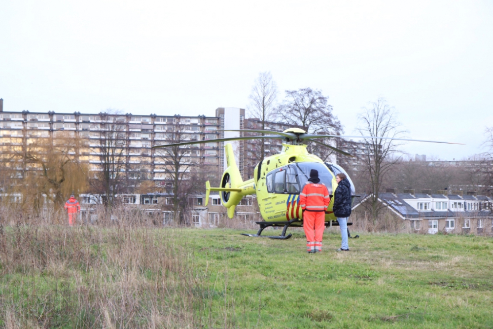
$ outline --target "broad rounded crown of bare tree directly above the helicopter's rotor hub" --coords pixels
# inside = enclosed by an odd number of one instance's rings
[[[285,93],[285,99],[276,109],[282,121],[314,134],[342,131],[341,122],[332,114],[332,106],[328,104],[329,97],[320,90],[300,88],[286,90]]]

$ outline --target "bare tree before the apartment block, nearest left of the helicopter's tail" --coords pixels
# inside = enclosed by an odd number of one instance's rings
[[[188,126],[180,122],[169,125],[166,134],[167,144],[190,141],[191,134],[187,130]],[[164,163],[161,165],[166,173],[164,187],[171,195],[168,197],[167,206],[173,211],[174,219],[179,224],[186,223],[188,199],[201,186],[198,182],[198,175],[194,172],[199,163],[193,160],[192,151],[196,152],[197,147],[194,145],[171,146],[158,148],[156,151],[161,162]]]

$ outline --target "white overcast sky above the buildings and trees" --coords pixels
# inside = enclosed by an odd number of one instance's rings
[[[481,151],[493,126],[493,2],[0,0],[4,110],[206,114],[259,72],[329,96],[353,133],[379,96],[410,154]]]

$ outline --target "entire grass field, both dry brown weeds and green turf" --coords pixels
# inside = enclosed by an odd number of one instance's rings
[[[308,255],[300,230],[36,230],[1,234],[3,328],[493,327],[490,237],[360,234],[337,253],[326,231]]]

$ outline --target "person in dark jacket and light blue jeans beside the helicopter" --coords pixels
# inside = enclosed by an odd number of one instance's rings
[[[334,192],[334,205],[332,211],[337,217],[341,228],[341,248],[337,251],[349,251],[348,244],[348,217],[351,215],[351,183],[345,174],[336,175],[338,186]]]

